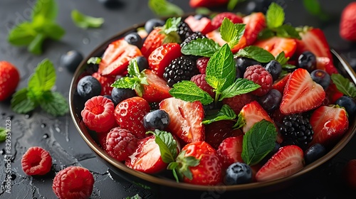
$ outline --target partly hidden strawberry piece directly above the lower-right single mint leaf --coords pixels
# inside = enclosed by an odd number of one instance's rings
[[[242,127],[242,131],[244,131],[244,133],[251,129],[253,124],[260,122],[262,119],[266,119],[274,124],[266,110],[263,109],[261,104],[258,104],[257,101],[253,101],[242,107],[239,117],[242,117],[245,122],[244,127]]]

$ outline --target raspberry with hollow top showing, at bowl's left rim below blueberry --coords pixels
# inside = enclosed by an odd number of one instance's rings
[[[85,102],[81,112],[84,124],[93,131],[104,132],[114,127],[114,103],[106,97],[95,96]]]

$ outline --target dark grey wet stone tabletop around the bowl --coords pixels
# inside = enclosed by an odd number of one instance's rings
[[[61,41],[48,41],[43,55],[31,55],[24,48],[17,48],[6,41],[9,30],[17,23],[29,19],[35,0],[1,0],[0,1],[0,60],[7,60],[16,65],[21,73],[18,89],[27,85],[33,68],[44,58],[49,58],[56,66],[56,90],[68,97],[70,80],[73,73],[60,65],[61,55],[68,50],[78,50],[88,55],[97,45],[134,23],[143,23],[155,17],[147,7],[147,1],[120,1],[115,9],[108,9],[98,0],[61,0],[58,1],[58,23],[66,29],[66,36]],[[190,12],[188,0],[172,1]],[[286,21],[293,26],[308,25],[323,28],[332,48],[346,59],[356,58],[355,43],[342,41],[338,35],[340,12],[350,1],[323,1],[323,9],[332,16],[323,22],[308,14],[300,1],[278,0],[286,9]],[[83,14],[105,18],[103,27],[83,30],[76,27],[70,19],[70,11],[78,9]],[[242,9],[242,8],[241,8]],[[239,9],[237,9],[239,10]],[[11,119],[11,194],[5,193],[6,185],[6,143],[0,143],[0,198],[56,198],[51,185],[56,172],[62,168],[79,165],[93,172],[95,187],[91,198],[125,198],[139,193],[143,198],[157,198],[148,190],[120,179],[115,181],[105,166],[85,144],[75,129],[70,114],[64,117],[51,117],[36,109],[31,114],[15,114],[9,108],[10,102],[0,103],[0,126],[5,126],[6,119]],[[21,156],[30,146],[41,146],[53,157],[53,168],[42,177],[26,176],[21,169]],[[345,187],[340,173],[345,163],[356,158],[356,138],[352,139],[340,154],[325,163],[303,181],[289,185],[288,188],[271,191],[263,198],[355,198],[355,191]],[[234,198],[238,198],[236,195]],[[169,195],[167,198],[174,198]],[[207,193],[200,198],[221,198],[219,194]]]

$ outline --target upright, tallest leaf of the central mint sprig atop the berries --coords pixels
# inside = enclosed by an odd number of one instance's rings
[[[206,67],[205,80],[211,87],[220,93],[229,87],[235,80],[236,68],[234,55],[228,44],[224,44],[219,51],[209,59]]]

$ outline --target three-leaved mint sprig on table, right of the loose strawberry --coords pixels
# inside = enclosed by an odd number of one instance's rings
[[[53,116],[63,116],[68,112],[68,102],[59,92],[52,91],[56,83],[56,69],[50,60],[38,63],[28,80],[28,87],[16,92],[11,99],[11,109],[26,114],[40,106]]]

